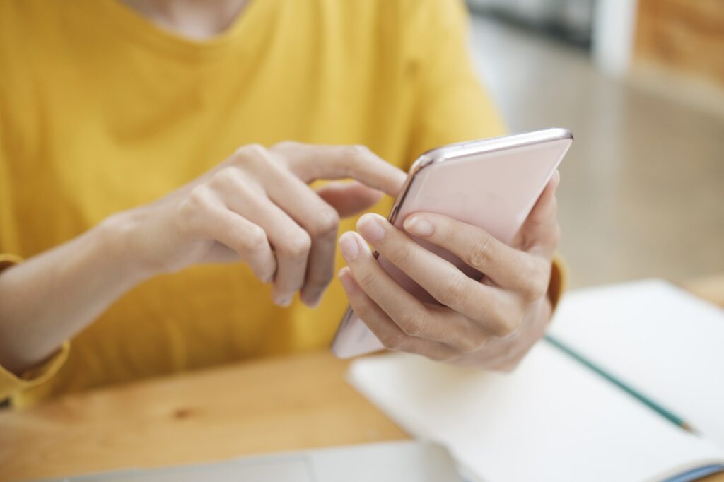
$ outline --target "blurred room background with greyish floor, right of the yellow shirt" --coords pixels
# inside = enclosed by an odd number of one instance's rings
[[[724,1],[468,0],[512,132],[568,127],[571,287],[724,274]]]

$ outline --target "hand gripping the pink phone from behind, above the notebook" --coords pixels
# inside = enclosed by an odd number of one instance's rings
[[[511,371],[550,320],[547,297],[560,237],[556,172],[510,246],[483,229],[433,213],[413,213],[405,231],[441,246],[484,274],[468,278],[382,216],[366,214],[340,237],[348,267],[340,280],[357,316],[390,350],[433,360]],[[365,242],[441,305],[422,303],[376,262]]]

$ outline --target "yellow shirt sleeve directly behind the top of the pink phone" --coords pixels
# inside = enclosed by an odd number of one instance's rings
[[[505,124],[473,67],[463,2],[416,0],[412,15],[407,41],[417,76],[411,161],[441,145],[504,135]]]

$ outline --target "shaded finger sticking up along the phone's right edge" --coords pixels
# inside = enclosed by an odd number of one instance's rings
[[[546,258],[552,256],[560,239],[555,199],[559,184],[560,174],[556,171],[513,240],[515,246]]]

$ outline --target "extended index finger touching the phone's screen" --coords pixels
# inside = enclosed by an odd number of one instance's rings
[[[304,182],[316,179],[356,179],[364,185],[396,196],[407,175],[363,145],[308,145],[280,143],[287,167]]]

